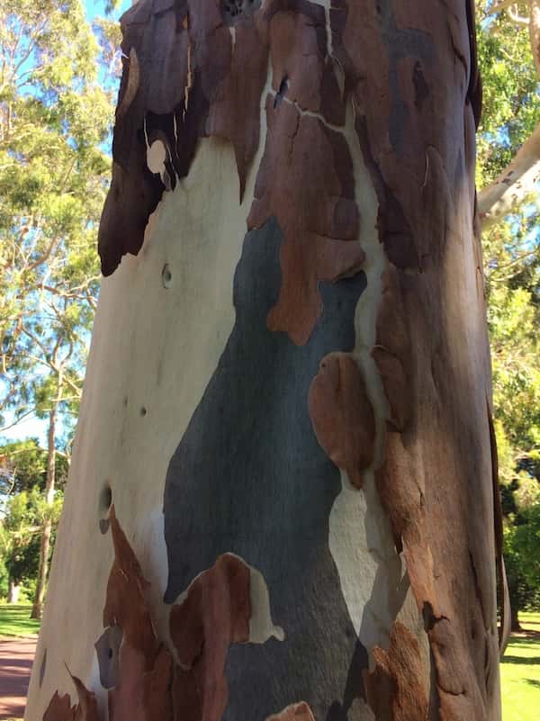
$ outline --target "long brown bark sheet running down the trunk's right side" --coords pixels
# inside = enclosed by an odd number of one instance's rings
[[[481,91],[467,11],[428,0],[334,0],[331,11],[388,261],[374,358],[391,415],[377,483],[448,721],[491,718],[497,698],[490,358],[473,218]]]

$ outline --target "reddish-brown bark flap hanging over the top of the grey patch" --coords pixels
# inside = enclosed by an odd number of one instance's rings
[[[356,242],[352,160],[340,133],[301,115],[293,104],[275,107],[268,96],[266,119],[265,155],[247,227],[275,215],[283,230],[283,284],[267,325],[302,346],[322,312],[319,281],[355,275],[365,258]]]

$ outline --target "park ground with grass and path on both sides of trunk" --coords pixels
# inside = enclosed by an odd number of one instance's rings
[[[512,634],[500,665],[502,721],[537,721],[540,613],[520,614],[519,621],[523,630]],[[0,721],[17,721],[23,716],[23,694],[30,675],[29,649],[33,649],[38,630],[39,622],[31,620],[29,606],[0,605],[0,689],[13,684],[11,707],[5,701],[5,691],[0,692]]]

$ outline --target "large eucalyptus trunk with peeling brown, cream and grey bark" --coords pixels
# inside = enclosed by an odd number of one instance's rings
[[[500,718],[466,5],[124,15],[29,720]]]

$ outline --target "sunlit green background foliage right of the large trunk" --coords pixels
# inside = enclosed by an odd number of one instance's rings
[[[512,607],[538,605],[528,551],[540,556],[533,524],[540,480],[540,231],[538,7],[479,5],[483,113],[477,184],[491,336],[505,558]],[[536,542],[536,547],[533,547]]]

